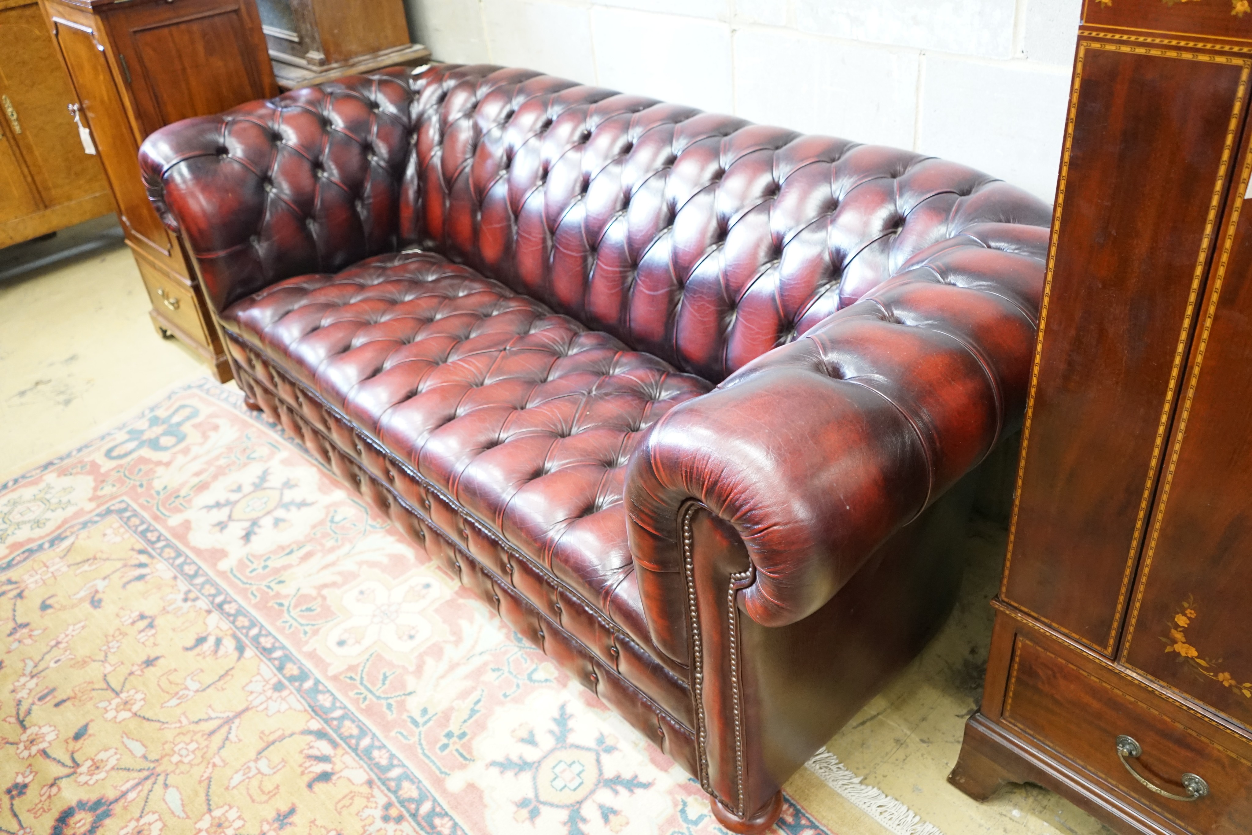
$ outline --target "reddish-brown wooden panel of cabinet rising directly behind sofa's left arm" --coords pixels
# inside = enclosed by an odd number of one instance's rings
[[[260,19],[249,1],[123,8],[109,15],[109,36],[129,74],[144,135],[278,94]]]

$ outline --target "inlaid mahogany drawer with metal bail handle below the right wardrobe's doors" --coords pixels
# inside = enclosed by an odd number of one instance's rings
[[[1111,684],[1018,635],[1002,721],[1045,742],[1109,786],[1187,831],[1252,831],[1252,761],[1229,731],[1176,707],[1129,679]],[[1163,791],[1186,795],[1184,772],[1208,784],[1194,801],[1171,800],[1144,787],[1118,757],[1117,737],[1133,737],[1142,754],[1127,761]]]

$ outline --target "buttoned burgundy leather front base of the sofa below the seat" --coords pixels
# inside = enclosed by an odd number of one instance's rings
[[[238,339],[230,339],[230,347],[240,384],[269,419],[282,424],[522,637],[618,710],[680,765],[695,769],[690,690],[684,677],[657,660],[660,653],[462,512],[442,491],[374,446],[268,358]],[[647,640],[646,631],[642,640]]]

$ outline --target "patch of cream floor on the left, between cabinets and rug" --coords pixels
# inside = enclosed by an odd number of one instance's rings
[[[51,240],[0,249],[0,478],[205,374],[195,354],[156,336],[119,233],[106,215]],[[85,252],[38,265],[65,249]]]

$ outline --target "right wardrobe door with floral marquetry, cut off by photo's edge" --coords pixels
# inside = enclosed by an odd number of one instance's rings
[[[1123,663],[1252,729],[1252,156],[1217,259]],[[1226,235],[1222,235],[1226,238]]]

